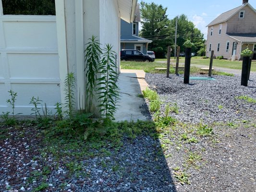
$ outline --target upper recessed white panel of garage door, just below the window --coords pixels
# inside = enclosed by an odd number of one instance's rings
[[[55,22],[4,21],[7,48],[57,48]]]

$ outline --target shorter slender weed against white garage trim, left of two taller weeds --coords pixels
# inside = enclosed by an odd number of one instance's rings
[[[75,82],[76,79],[74,77],[74,73],[70,72],[67,74],[66,79],[64,81],[65,85],[65,107],[67,108],[64,113],[69,117],[71,120],[74,113],[74,105],[75,105],[75,98],[74,98],[74,89],[75,89]]]

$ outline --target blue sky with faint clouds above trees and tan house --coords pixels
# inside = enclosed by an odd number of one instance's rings
[[[185,14],[195,26],[207,37],[207,24],[222,12],[229,11],[242,5],[243,0],[144,0],[147,3],[155,2],[167,7],[169,19],[176,15]],[[138,0],[141,2],[141,0]],[[249,0],[256,9],[256,0]]]

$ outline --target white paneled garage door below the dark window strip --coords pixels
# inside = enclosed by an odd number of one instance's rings
[[[61,101],[55,16],[0,15],[0,113],[12,111],[8,91],[17,93],[15,113],[30,115],[32,96],[49,110]]]

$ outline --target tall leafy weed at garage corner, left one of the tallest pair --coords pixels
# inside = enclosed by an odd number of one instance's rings
[[[97,73],[100,64],[102,50],[96,36],[89,38],[85,49],[85,91],[88,112],[91,112],[93,99],[96,93]]]

